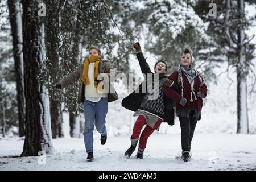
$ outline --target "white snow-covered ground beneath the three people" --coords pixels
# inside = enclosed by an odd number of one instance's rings
[[[123,156],[129,136],[109,137],[105,146],[94,137],[94,162],[86,162],[82,138],[53,139],[54,155],[15,157],[23,140],[0,140],[0,170],[256,170],[256,135],[200,134],[192,143],[192,160],[176,159],[181,152],[179,134],[154,133],[148,139],[144,159]],[[39,159],[40,158],[40,159]],[[45,159],[45,160],[44,160]]]

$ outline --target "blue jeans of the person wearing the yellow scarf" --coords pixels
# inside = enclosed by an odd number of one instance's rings
[[[93,129],[102,136],[106,135],[106,114],[108,113],[108,98],[102,97],[98,102],[84,100],[84,144],[86,152],[93,152]],[[94,122],[95,121],[95,122]]]

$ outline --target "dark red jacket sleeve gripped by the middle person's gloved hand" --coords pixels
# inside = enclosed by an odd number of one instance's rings
[[[166,95],[166,97],[170,98],[171,100],[174,100],[175,102],[179,102],[182,97],[177,90],[177,85],[179,85],[177,77],[178,77],[177,71],[173,72],[168,77],[168,79],[174,81],[175,84],[172,85],[171,88],[164,85],[164,94]]]

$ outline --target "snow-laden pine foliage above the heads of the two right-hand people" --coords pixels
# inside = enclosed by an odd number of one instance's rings
[[[207,24],[195,13],[190,1],[117,1],[122,19],[121,28],[139,36],[145,32],[145,50],[157,59],[166,60],[168,73],[179,64],[185,48],[191,49],[197,67],[203,59],[199,56],[209,42]],[[121,6],[122,5],[122,6]],[[138,6],[141,5],[141,6]],[[193,58],[194,58],[193,57]],[[202,68],[207,77],[211,69]]]

